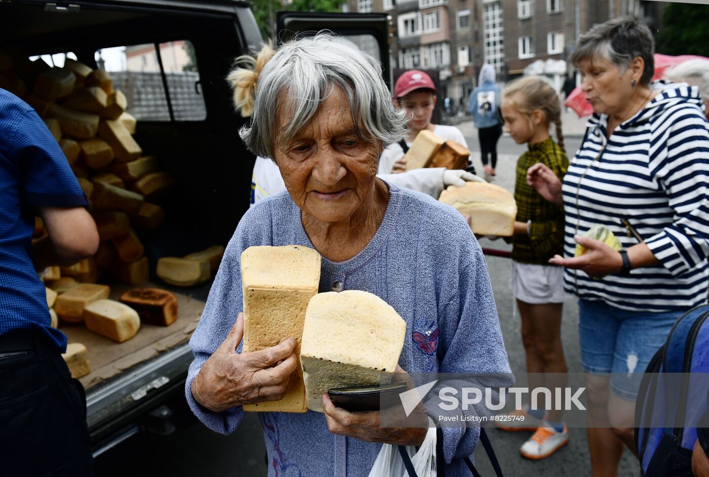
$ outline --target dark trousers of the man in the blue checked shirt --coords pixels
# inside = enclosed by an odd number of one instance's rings
[[[39,332],[0,335],[0,474],[93,476],[84,388]]]

